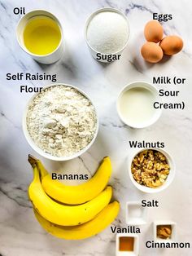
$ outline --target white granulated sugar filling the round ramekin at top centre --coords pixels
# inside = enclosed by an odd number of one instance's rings
[[[112,54],[120,51],[129,38],[129,25],[123,15],[102,11],[90,20],[87,40],[94,51]]]

